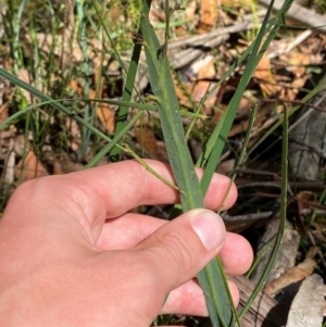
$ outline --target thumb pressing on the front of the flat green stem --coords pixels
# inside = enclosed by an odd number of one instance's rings
[[[137,250],[150,255],[156,291],[165,297],[193,278],[220,251],[225,239],[222,218],[196,209],[165,224],[143,240]],[[136,250],[136,249],[135,249]],[[162,293],[161,293],[162,292]]]

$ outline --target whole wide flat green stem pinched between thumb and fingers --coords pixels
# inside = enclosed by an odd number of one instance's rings
[[[203,196],[185,141],[179,104],[167,58],[162,52],[163,49],[149,18],[145,15],[141,18],[140,29],[149,66],[150,83],[158,101],[166,151],[180,191],[183,211],[203,207]],[[213,326],[233,326],[231,300],[218,262],[213,260],[199,273],[198,280],[204,291]]]

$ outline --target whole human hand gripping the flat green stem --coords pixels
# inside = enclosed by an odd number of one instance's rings
[[[173,180],[166,164],[147,162]],[[215,174],[205,206],[217,210],[228,186]],[[236,197],[233,187],[225,209]],[[208,210],[173,222],[128,213],[178,201],[176,190],[136,161],[24,183],[0,219],[1,320],[7,327],[147,327],[159,314],[206,315],[193,276],[217,253],[227,274],[243,274],[252,251]],[[236,286],[230,290],[237,303]]]

